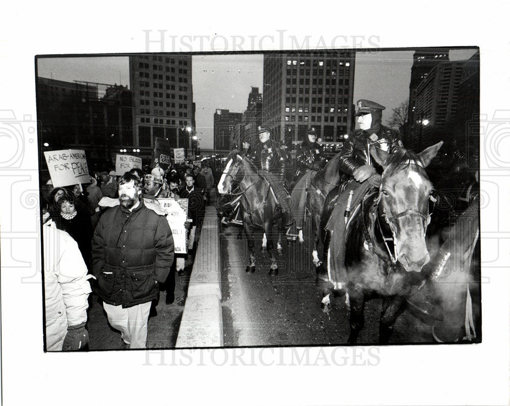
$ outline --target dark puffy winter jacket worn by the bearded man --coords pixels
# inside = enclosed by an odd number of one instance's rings
[[[173,237],[166,217],[145,207],[108,209],[92,239],[92,273],[98,295],[129,308],[158,297],[173,262]]]

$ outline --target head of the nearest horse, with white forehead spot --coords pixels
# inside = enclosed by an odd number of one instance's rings
[[[419,154],[405,149],[388,154],[372,148],[374,160],[384,168],[377,197],[379,215],[393,234],[395,260],[408,272],[420,272],[430,260],[425,232],[430,222],[429,204],[435,199],[425,167],[441,145],[442,141]]]

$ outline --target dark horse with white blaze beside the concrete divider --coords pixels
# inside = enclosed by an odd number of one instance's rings
[[[274,255],[274,246],[276,245],[278,254],[281,254],[282,212],[269,187],[269,183],[258,174],[257,168],[238,150],[228,154],[225,168],[218,183],[218,192],[221,194],[227,193],[233,184],[236,184],[241,192],[243,226],[250,251],[246,272],[255,271],[253,229],[256,227],[264,231],[268,240],[267,252],[271,257],[269,274],[277,275],[278,265]],[[276,233],[273,231],[275,223]],[[277,239],[275,239],[276,235]],[[264,249],[264,241],[262,248]]]

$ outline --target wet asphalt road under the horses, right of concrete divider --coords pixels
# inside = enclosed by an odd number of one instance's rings
[[[320,309],[322,287],[316,284],[311,244],[284,243],[278,260],[279,274],[268,275],[270,260],[259,251],[256,240],[255,273],[246,273],[248,247],[238,228],[223,227],[222,308],[224,345],[309,346],[345,345],[349,335],[349,311],[345,297],[335,297],[326,314]],[[365,307],[365,328],[359,343],[377,343],[380,299]],[[433,342],[430,326],[407,312],[397,320],[393,343]]]

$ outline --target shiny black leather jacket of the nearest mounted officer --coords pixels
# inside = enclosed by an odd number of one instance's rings
[[[372,137],[373,134],[377,136]],[[354,170],[373,162],[369,157],[369,148],[381,148],[392,153],[396,148],[403,147],[398,131],[381,126],[376,133],[367,133],[364,130],[354,130],[344,141],[340,150],[339,169],[346,175],[352,176]],[[372,137],[372,138],[370,138]]]

